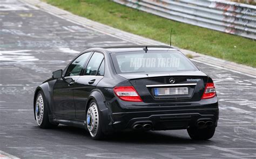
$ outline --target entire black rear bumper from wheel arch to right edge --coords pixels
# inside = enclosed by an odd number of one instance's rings
[[[108,128],[112,131],[127,131],[132,130],[136,124],[151,124],[152,130],[186,129],[197,126],[199,120],[212,121],[211,126],[216,127],[219,119],[218,100],[212,99],[206,103],[190,106],[143,106],[137,109],[134,108],[136,106],[123,106],[119,112],[109,110],[107,119],[111,121],[108,122]]]

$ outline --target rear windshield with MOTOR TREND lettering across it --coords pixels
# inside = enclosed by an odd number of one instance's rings
[[[112,53],[111,57],[117,74],[198,70],[185,55],[177,51]]]

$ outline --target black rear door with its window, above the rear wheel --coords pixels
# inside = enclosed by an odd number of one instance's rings
[[[86,102],[90,93],[96,88],[98,82],[104,77],[105,60],[103,53],[94,52],[74,88],[76,119],[85,120]]]

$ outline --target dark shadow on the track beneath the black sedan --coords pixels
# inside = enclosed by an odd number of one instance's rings
[[[71,126],[59,125],[57,128],[52,129],[58,133],[68,133],[73,137],[86,138],[86,140],[92,140],[89,132],[82,128],[76,128]],[[179,134],[181,131],[147,131],[147,132],[118,132],[111,135],[106,135],[103,140],[94,142],[112,142],[112,143],[159,143],[159,144],[212,144],[212,140],[192,140],[184,133]]]

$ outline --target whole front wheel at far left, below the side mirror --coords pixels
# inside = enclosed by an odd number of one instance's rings
[[[53,125],[49,121],[46,100],[42,91],[37,93],[35,105],[36,123],[40,128],[54,128],[58,125]]]

